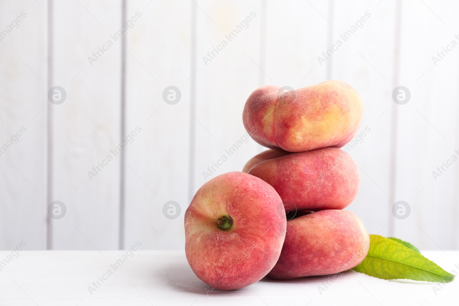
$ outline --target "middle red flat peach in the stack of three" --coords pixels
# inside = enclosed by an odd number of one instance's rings
[[[355,199],[360,185],[356,163],[337,148],[262,161],[249,174],[273,186],[286,211],[343,209]]]

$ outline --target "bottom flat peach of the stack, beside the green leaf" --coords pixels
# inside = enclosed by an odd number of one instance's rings
[[[369,235],[350,211],[316,211],[287,221],[279,260],[269,272],[274,279],[340,273],[367,256]]]

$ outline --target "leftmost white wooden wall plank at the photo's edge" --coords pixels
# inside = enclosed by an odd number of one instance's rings
[[[0,2],[1,249],[46,247],[47,6],[32,5]]]

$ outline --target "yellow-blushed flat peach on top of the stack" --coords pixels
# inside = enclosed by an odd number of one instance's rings
[[[340,148],[362,122],[362,97],[343,81],[329,80],[290,92],[263,86],[247,99],[242,119],[252,138],[268,148],[303,152]]]

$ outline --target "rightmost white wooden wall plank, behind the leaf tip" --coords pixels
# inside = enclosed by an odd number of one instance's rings
[[[400,84],[411,100],[398,106],[396,200],[411,205],[412,215],[396,220],[395,232],[420,248],[457,248],[458,165],[435,180],[433,171],[458,149],[458,49],[434,64],[442,47],[458,34],[454,1],[403,2]],[[424,74],[423,74],[424,73]],[[423,189],[424,188],[424,189]],[[422,190],[422,191],[421,191]]]

